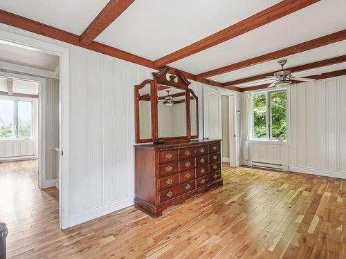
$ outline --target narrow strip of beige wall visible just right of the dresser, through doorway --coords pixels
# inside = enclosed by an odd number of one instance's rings
[[[230,158],[230,109],[229,97],[221,96],[222,157]]]

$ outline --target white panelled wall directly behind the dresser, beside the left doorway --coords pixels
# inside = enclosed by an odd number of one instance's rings
[[[70,226],[134,204],[134,85],[153,70],[1,23],[0,30],[70,50]],[[190,86],[202,118],[203,84]]]

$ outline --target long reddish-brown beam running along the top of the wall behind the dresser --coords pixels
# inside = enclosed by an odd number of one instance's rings
[[[48,26],[44,23],[39,23],[38,21],[34,21],[26,17],[21,17],[19,15],[12,14],[11,12],[6,12],[5,10],[1,10],[1,9],[0,9],[0,23],[5,23],[5,24],[8,24],[9,26],[14,26],[17,28],[21,28],[23,30],[28,30],[29,32],[34,32],[39,35],[50,37],[52,39],[57,39],[59,41],[64,41],[68,44],[79,46],[81,48],[86,48],[88,50],[100,52],[104,55],[116,57],[118,59],[126,60],[134,64],[146,66],[147,68],[160,70],[160,68],[154,66],[154,61],[152,60],[145,59],[144,57],[139,57],[129,52],[119,50],[118,48],[113,48],[111,46],[101,44],[97,41],[92,41],[91,44],[89,44],[88,46],[83,45],[80,43],[78,35],[75,35],[71,32],[66,32],[65,30],[60,30],[53,26]],[[174,68],[170,68],[168,73],[175,75],[175,71],[176,70]],[[212,80],[204,79],[204,78],[196,79],[195,75],[185,71],[181,71],[181,73],[183,73],[183,75],[185,75],[185,77],[188,79],[199,81],[203,84],[210,84],[211,86],[222,87],[222,84],[217,81],[212,81]],[[235,89],[240,91],[240,88],[235,88]]]

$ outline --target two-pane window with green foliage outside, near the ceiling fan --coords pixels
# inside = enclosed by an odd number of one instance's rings
[[[286,90],[253,95],[253,140],[287,141],[286,100]]]

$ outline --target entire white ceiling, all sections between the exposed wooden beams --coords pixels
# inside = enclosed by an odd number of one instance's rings
[[[19,3],[2,0],[0,8],[80,35],[108,1],[26,0]],[[278,2],[280,0],[136,0],[96,41],[155,60]],[[344,30],[345,10],[345,0],[322,0],[170,66],[199,74]],[[346,55],[346,41],[290,55],[286,57],[289,59],[286,66],[340,55]],[[210,79],[233,81],[279,69],[277,60],[272,60]]]

